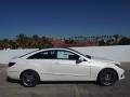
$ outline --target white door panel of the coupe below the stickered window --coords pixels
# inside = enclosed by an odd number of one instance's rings
[[[51,70],[53,74],[62,75],[63,77],[62,80],[64,80],[64,75],[66,75],[65,79],[68,79],[68,80],[69,80],[69,77],[73,78],[72,80],[76,80],[77,78],[90,79],[90,65],[86,61],[76,64],[76,60],[57,59],[51,66]]]

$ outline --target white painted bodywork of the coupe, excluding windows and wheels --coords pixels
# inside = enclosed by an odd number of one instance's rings
[[[74,55],[68,55],[69,57],[67,59],[58,59],[56,56],[52,57],[53,59],[50,57],[46,59],[48,55],[51,56],[50,53],[44,53],[47,51],[54,51],[52,56],[57,55],[58,51],[65,51],[67,54],[69,54],[68,52],[72,52]],[[31,56],[31,54],[28,54],[22,58],[12,59],[12,63],[15,63],[15,65],[8,68],[8,77],[20,80],[21,73],[29,69],[36,71],[41,81],[96,81],[99,73],[103,69],[112,68],[117,72],[119,80],[125,79],[125,71],[116,65],[116,61],[89,59],[83,55],[68,48],[47,48],[37,51],[34,55],[39,54],[39,52],[42,54],[42,58],[35,57],[35,59],[28,59],[26,57]],[[83,59],[80,60],[80,63],[77,63],[80,57]]]

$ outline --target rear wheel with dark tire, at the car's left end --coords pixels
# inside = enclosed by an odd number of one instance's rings
[[[35,87],[39,81],[39,75],[34,70],[26,70],[21,74],[21,84],[25,87]]]

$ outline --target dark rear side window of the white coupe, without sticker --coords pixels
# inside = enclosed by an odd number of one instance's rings
[[[55,58],[55,51],[44,51],[37,53],[35,55],[31,55],[27,59],[54,59]]]

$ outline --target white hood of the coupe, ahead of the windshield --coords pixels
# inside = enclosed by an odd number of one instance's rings
[[[104,64],[118,64],[118,65],[120,65],[119,61],[114,61],[114,60],[106,59],[106,58],[103,58],[103,57],[92,56],[91,59],[94,60],[94,61],[104,63]]]

